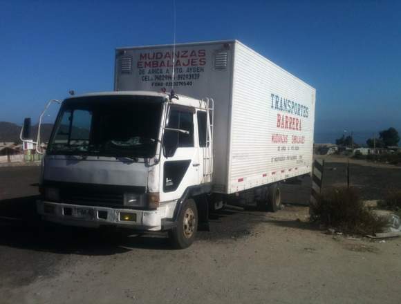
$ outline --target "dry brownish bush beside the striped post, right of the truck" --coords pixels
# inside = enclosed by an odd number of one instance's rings
[[[347,234],[375,234],[387,225],[385,218],[364,207],[355,188],[332,188],[319,196],[314,213],[327,227]]]

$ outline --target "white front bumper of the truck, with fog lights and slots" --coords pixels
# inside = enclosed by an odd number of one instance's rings
[[[86,212],[82,216],[82,211]],[[114,225],[144,231],[162,230],[162,217],[165,210],[133,210],[115,209],[108,207],[82,206],[64,204],[59,202],[37,201],[37,213],[44,220],[57,222],[63,225],[80,227],[100,227],[101,225]],[[120,213],[135,214],[134,221],[120,219]]]

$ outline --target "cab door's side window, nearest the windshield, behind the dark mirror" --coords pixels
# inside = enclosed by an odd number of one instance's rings
[[[171,109],[163,139],[165,155],[171,157],[177,148],[194,146],[194,115],[190,111]],[[180,131],[181,130],[181,131]],[[188,133],[183,133],[187,131]]]

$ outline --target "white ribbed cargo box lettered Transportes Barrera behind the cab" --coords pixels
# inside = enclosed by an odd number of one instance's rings
[[[115,91],[214,99],[214,191],[310,173],[315,88],[239,41],[118,48]],[[174,68],[174,80],[173,77]]]

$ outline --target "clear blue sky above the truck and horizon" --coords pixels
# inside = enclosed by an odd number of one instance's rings
[[[36,122],[48,99],[71,88],[111,91],[114,48],[171,43],[172,3],[0,0],[0,121]],[[177,42],[239,39],[314,86],[318,141],[344,129],[360,142],[389,126],[401,131],[401,1],[176,0],[176,8]]]

